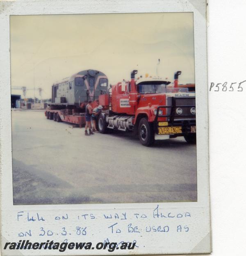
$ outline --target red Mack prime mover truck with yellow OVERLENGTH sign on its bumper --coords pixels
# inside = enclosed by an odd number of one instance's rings
[[[98,130],[134,131],[141,144],[151,146],[155,140],[183,136],[188,143],[196,143],[195,93],[189,91],[191,84],[178,85],[159,77],[139,77],[137,70],[131,72],[131,80],[113,85],[108,94],[99,95],[103,106],[98,117]],[[192,87],[192,86],[191,86]]]

